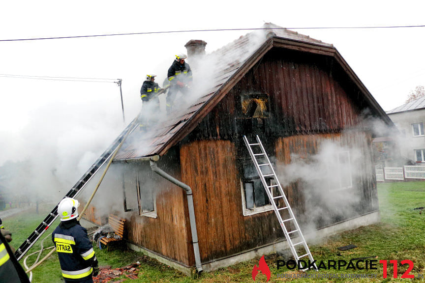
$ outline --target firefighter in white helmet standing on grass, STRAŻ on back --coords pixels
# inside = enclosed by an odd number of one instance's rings
[[[63,198],[58,204],[61,224],[52,233],[65,283],[93,283],[99,266],[86,228],[77,220],[78,200]]]

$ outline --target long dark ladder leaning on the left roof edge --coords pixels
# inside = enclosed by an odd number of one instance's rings
[[[78,180],[71,190],[65,195],[64,198],[75,198],[86,184],[90,181],[91,177],[102,167],[102,165],[111,157],[115,149],[120,145],[122,139],[128,131],[133,131],[137,124],[137,116],[122,132],[121,135],[106,149],[102,155],[91,165],[90,169]],[[58,203],[59,205],[59,203]],[[30,234],[30,236],[22,243],[19,249],[15,252],[15,257],[20,260],[30,248],[37,242],[41,235],[53,224],[58,218],[58,205],[49,213],[49,215],[37,226],[37,228]]]

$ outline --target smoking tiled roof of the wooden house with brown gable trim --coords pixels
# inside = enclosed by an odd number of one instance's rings
[[[213,72],[211,85],[207,89],[203,89],[191,105],[168,114],[167,120],[151,129],[149,133],[143,129],[133,131],[117,153],[115,160],[165,154],[171,146],[180,142],[196,127],[198,122],[209,113],[253,64],[273,48],[273,43],[280,44],[279,46],[283,44],[285,47],[293,46],[297,50],[306,52],[334,56],[344,66],[353,81],[359,85],[370,105],[380,115],[388,118],[332,44],[266,23],[261,29],[247,33],[206,55],[206,59],[212,59],[211,61],[215,62],[215,66],[211,68]],[[216,59],[214,60],[214,58]],[[391,120],[388,118],[388,121]]]

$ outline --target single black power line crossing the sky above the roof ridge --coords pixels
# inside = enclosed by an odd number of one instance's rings
[[[236,30],[262,30],[262,29],[364,29],[364,28],[423,28],[420,26],[380,26],[380,27],[313,27],[313,28],[219,28],[219,29],[189,29],[189,30],[168,30],[168,31],[148,31],[148,32],[130,32],[130,33],[111,33],[111,34],[96,34],[96,35],[77,35],[77,36],[58,36],[58,37],[36,37],[36,38],[21,38],[21,39],[0,39],[1,41],[28,41],[28,40],[43,40],[43,39],[65,39],[65,38],[84,38],[84,37],[101,37],[101,36],[116,36],[116,35],[136,35],[136,34],[158,34],[158,33],[182,33],[182,32],[199,32],[199,31],[236,31]]]

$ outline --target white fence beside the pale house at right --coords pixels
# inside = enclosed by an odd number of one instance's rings
[[[425,166],[385,167],[375,169],[376,181],[425,179]]]

